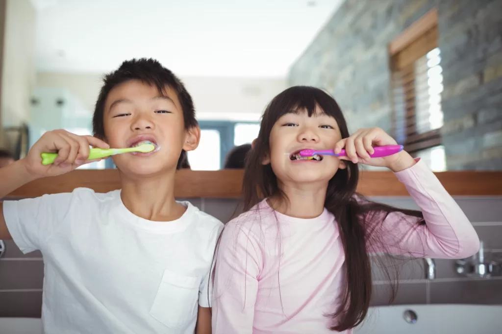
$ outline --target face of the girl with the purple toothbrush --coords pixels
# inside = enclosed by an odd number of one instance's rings
[[[271,163],[281,183],[328,182],[343,161],[335,156],[323,155],[320,160],[298,159],[302,149],[333,149],[341,134],[336,120],[316,106],[312,117],[306,110],[281,116],[270,133],[270,154],[263,161]]]

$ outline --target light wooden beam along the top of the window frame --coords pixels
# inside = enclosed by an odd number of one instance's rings
[[[433,8],[389,44],[389,54],[391,57],[409,46],[420,36],[437,25],[437,23],[438,11],[436,8]]]

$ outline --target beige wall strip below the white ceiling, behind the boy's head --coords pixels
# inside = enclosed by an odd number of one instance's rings
[[[37,74],[39,87],[64,87],[93,110],[102,74]],[[258,120],[270,100],[286,88],[285,78],[182,78],[199,119]]]

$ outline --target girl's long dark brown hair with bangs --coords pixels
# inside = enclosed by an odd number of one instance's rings
[[[262,164],[265,155],[270,152],[270,133],[275,122],[284,114],[305,110],[309,117],[312,117],[316,105],[336,120],[342,138],[349,136],[340,107],[324,91],[314,87],[295,86],[277,95],[265,110],[258,138],[246,158],[242,186],[244,211],[251,210],[264,198],[287,200],[286,194],[279,187],[271,165]],[[379,235],[379,230],[376,228],[378,223],[393,212],[417,217],[416,225],[424,223],[423,215],[419,211],[403,210],[370,202],[357,194],[356,186],[359,181],[357,164],[351,161],[345,161],[345,164],[347,168],[339,169],[329,181],[324,203],[325,208],[336,218],[345,251],[346,289],[343,292],[339,309],[327,315],[333,319],[330,329],[336,331],[357,326],[367,313],[371,298],[371,263],[368,253],[371,252],[373,246],[374,249],[379,250],[388,247],[381,242],[381,233]],[[391,280],[389,273],[387,277]],[[391,286],[393,287],[392,300],[396,283]]]

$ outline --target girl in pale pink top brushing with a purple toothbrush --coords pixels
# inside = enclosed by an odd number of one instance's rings
[[[265,110],[244,172],[244,213],[217,248],[212,332],[349,333],[371,298],[368,253],[464,258],[479,249],[465,215],[423,161],[406,151],[369,158],[396,141],[382,129],[349,135],[333,98],[292,87]],[[300,159],[306,148],[348,157]],[[422,212],[364,200],[356,163],[386,166]]]

